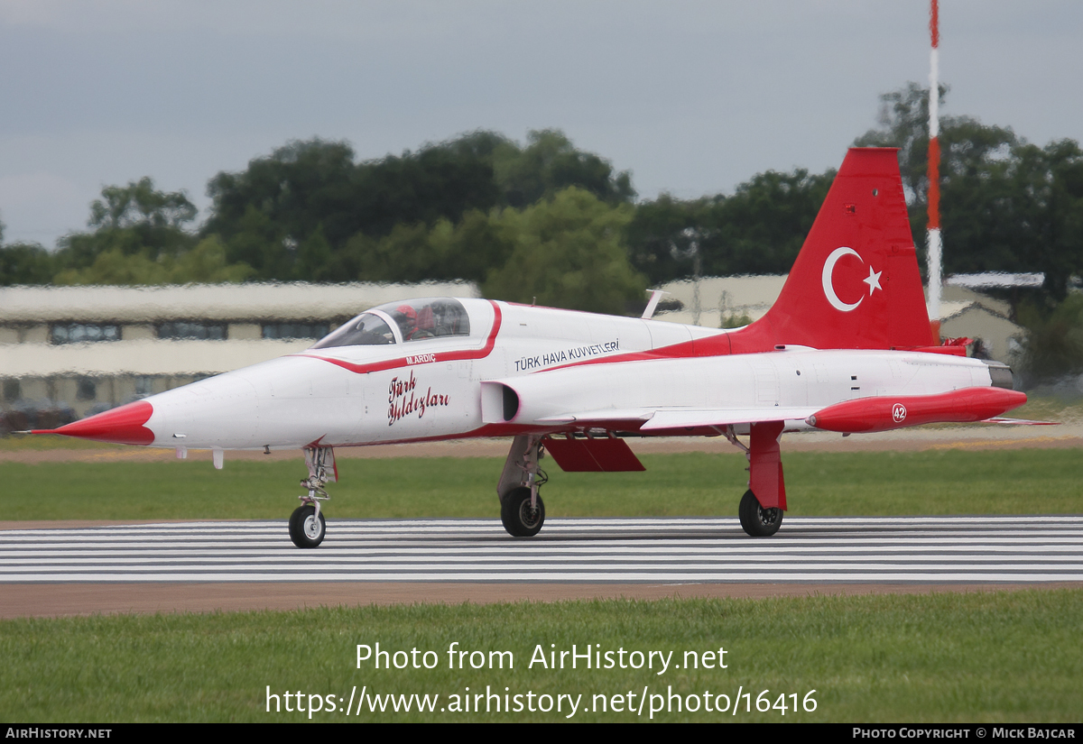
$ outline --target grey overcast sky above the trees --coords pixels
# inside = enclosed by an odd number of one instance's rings
[[[942,114],[1083,141],[1083,2],[941,0]],[[837,167],[928,78],[928,1],[0,0],[5,242],[82,229],[103,185],[184,189],[289,140],[362,159],[558,128],[641,198]]]

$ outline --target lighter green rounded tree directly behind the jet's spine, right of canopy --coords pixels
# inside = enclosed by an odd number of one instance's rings
[[[645,278],[628,263],[628,205],[612,207],[577,187],[525,210],[504,210],[497,222],[513,249],[488,274],[483,292],[498,300],[624,313],[642,300]]]

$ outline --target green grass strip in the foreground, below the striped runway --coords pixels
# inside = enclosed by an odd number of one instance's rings
[[[212,615],[92,616],[0,622],[0,719],[49,721],[306,720],[266,713],[266,688],[335,694],[439,694],[433,714],[371,714],[354,720],[545,721],[551,713],[440,713],[448,695],[582,694],[573,720],[650,720],[600,713],[593,695],[666,695],[700,701],[739,688],[752,713],[655,714],[695,721],[1074,721],[1083,712],[1083,590],[760,600],[574,601],[538,604],[321,608]],[[356,645],[435,651],[433,669],[356,668]],[[511,651],[512,669],[448,669],[453,641],[466,651]],[[582,653],[725,648],[727,668],[545,669],[535,648]],[[430,657],[431,660],[431,657]],[[655,660],[656,661],[656,660]],[[566,660],[570,663],[570,659]],[[757,713],[764,690],[805,699],[815,710]],[[742,693],[743,694],[743,693]],[[525,699],[524,699],[525,700]],[[657,701],[655,701],[657,702]],[[792,699],[786,698],[790,705]],[[725,701],[719,700],[719,704]],[[273,703],[272,703],[273,705]],[[589,713],[583,708],[590,708]],[[316,713],[313,720],[344,721]]]

